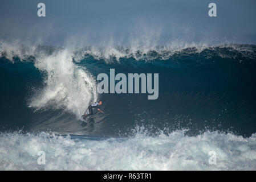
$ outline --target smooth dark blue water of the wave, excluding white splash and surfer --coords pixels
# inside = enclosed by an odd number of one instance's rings
[[[94,78],[99,73],[109,75],[111,68],[116,74],[125,75],[159,73],[157,100],[148,100],[148,94],[99,94],[105,114],[97,113],[90,123],[82,122],[72,110],[55,107],[59,101],[49,102],[43,109],[29,107],[35,93],[49,84],[45,80],[50,71],[36,66],[35,55],[10,60],[2,53],[1,131],[117,136],[129,135],[135,126],[144,126],[152,135],[159,130],[168,133],[177,129],[188,129],[189,135],[206,130],[231,131],[245,137],[255,133],[255,46],[220,46],[200,51],[187,48],[172,53],[159,49],[123,57],[112,55],[108,59],[84,53],[80,59],[71,60],[74,67],[86,69]],[[44,54],[49,56],[52,52]],[[85,103],[83,108],[86,107]]]

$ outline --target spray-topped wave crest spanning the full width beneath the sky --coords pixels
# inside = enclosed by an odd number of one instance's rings
[[[106,45],[106,46],[87,46],[87,47],[54,47],[54,46],[28,46],[23,44],[0,43],[0,55],[9,60],[19,57],[21,60],[31,60],[32,57],[42,57],[52,55],[56,52],[66,50],[72,54],[72,59],[81,61],[87,57],[94,57],[96,60],[104,60],[107,63],[120,59],[133,58],[135,60],[168,60],[180,56],[220,56],[236,59],[239,56],[256,59],[256,46],[250,44],[216,44],[209,45],[204,43],[182,43],[173,42],[165,46],[143,46],[143,45]],[[1,57],[0,56],[0,57]]]

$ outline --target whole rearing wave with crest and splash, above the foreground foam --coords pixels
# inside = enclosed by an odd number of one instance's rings
[[[180,47],[178,47],[180,48]],[[64,49],[1,47],[3,130],[119,135],[135,125],[157,130],[232,131],[249,137],[256,121],[256,47],[250,45]],[[107,54],[108,53],[108,54]],[[96,77],[159,73],[159,98],[97,94]],[[88,105],[103,100],[106,114],[81,125]],[[83,123],[82,123],[83,124]],[[121,131],[121,132],[120,132]]]

